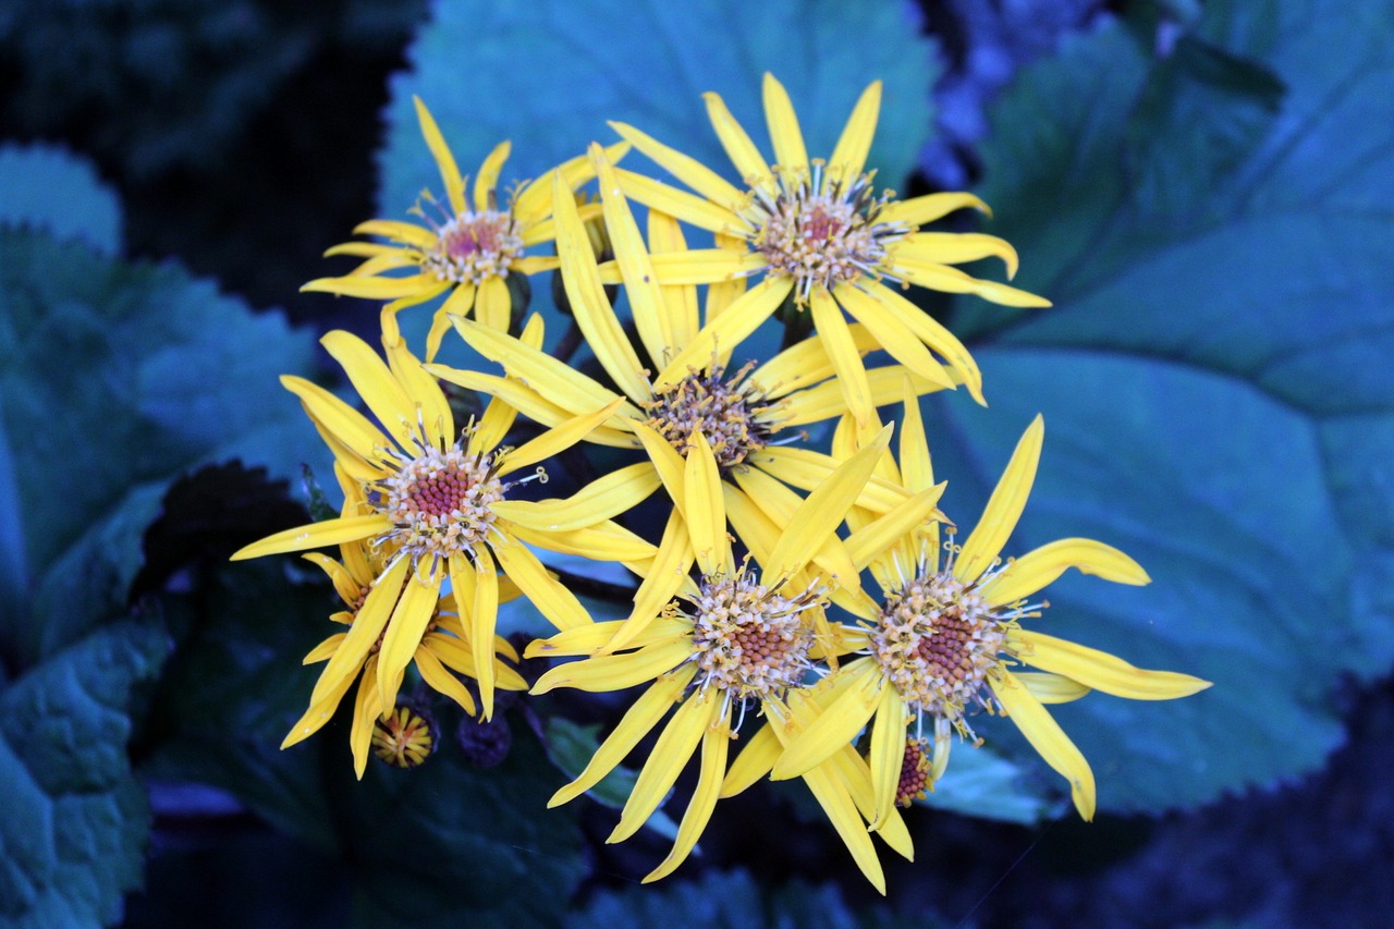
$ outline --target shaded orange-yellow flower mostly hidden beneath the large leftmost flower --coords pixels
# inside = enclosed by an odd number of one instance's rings
[[[362,497],[362,487],[350,478],[342,467],[336,466],[335,471],[339,476],[339,485],[344,491],[342,515],[344,518],[354,518],[365,512],[368,506]],[[329,579],[335,584],[335,590],[339,593],[339,598],[344,601],[346,607],[348,607],[347,610],[332,615],[330,619],[350,626],[351,629],[354,622],[357,622],[360,612],[367,608],[369,598],[374,598],[376,608],[378,601],[390,601],[400,596],[401,590],[400,587],[396,590],[382,587],[378,583],[378,579],[386,568],[385,561],[389,555],[386,548],[374,548],[364,540],[354,540],[340,544],[339,554],[342,561],[335,561],[321,552],[308,552],[304,558],[315,565],[319,565],[319,568],[329,575]],[[500,603],[513,600],[517,596],[519,590],[514,584],[507,580],[500,582]],[[332,660],[335,654],[344,647],[347,640],[347,632],[339,632],[329,636],[315,646],[308,656],[305,656],[304,663],[316,664],[319,661]],[[358,692],[354,699],[354,717],[348,727],[348,746],[354,756],[354,770],[358,777],[362,777],[364,766],[368,763],[369,739],[378,739],[378,730],[382,725],[382,718],[378,713],[381,706],[376,699],[378,654],[382,649],[382,640],[383,635],[379,633],[376,642],[374,642],[365,653],[348,663],[347,671],[336,671],[336,675],[328,685],[328,689],[321,692],[322,695],[318,700],[311,700],[309,709],[296,723],[296,725],[291,727],[290,734],[286,735],[286,741],[282,742],[282,749],[290,748],[291,745],[296,745],[297,742],[318,732],[333,717],[335,710],[339,709],[339,703],[348,692],[354,679],[358,679]],[[517,661],[517,651],[514,651],[513,646],[510,646],[509,642],[500,636],[495,636],[493,650],[496,654],[503,654],[507,656],[509,660]],[[478,677],[475,674],[475,657],[468,646],[453,594],[443,594],[438,598],[435,610],[431,614],[425,629],[415,644],[415,650],[411,654],[411,661],[421,672],[421,678],[432,689],[453,699],[470,716],[475,714],[474,697],[464,688],[464,685],[460,683],[454,674],[452,674],[453,671],[456,674],[464,674],[470,678]],[[503,664],[498,658],[493,658],[492,665],[493,678],[498,682],[498,686],[505,690],[527,689],[527,682],[523,681],[523,678],[513,668]],[[400,710],[400,707],[397,709]]]

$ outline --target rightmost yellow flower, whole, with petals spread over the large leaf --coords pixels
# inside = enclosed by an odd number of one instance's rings
[[[1002,545],[1030,494],[1043,437],[1043,421],[1036,417],[977,527],[962,548],[949,545],[942,564],[935,526],[906,531],[896,513],[885,513],[852,533],[848,551],[859,566],[871,568],[881,587],[880,608],[863,614],[861,628],[843,629],[842,644],[864,654],[841,668],[841,696],[781,756],[772,777],[796,777],[820,764],[870,721],[875,822],[882,822],[895,802],[905,799],[905,766],[914,748],[907,746],[910,724],[916,735],[926,720],[933,725],[934,749],[924,781],[931,785],[948,760],[951,732],[973,738],[967,714],[981,709],[1016,724],[1046,763],[1069,781],[1075,806],[1087,820],[1094,815],[1093,771],[1044,704],[1073,700],[1090,689],[1135,700],[1170,700],[1210,686],[1186,674],[1135,668],[1111,654],[1020,626],[1046,605],[1029,600],[1069,568],[1125,584],[1150,580],[1132,558],[1089,538],[1064,538],[1001,561]],[[906,403],[901,469],[912,490],[933,483],[913,399]],[[1040,671],[1016,670],[1022,664]],[[920,766],[919,759],[910,760]]]

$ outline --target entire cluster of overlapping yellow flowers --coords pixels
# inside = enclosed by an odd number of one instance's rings
[[[283,378],[333,451],[342,515],[236,555],[340,548],[339,561],[305,555],[332,577],[346,604],[333,619],[346,629],[305,658],[326,664],[286,745],[319,730],[357,681],[350,745],[360,777],[374,745],[382,757],[420,762],[431,737],[397,709],[408,667],[488,718],[496,689],[528,688],[517,653],[495,632],[499,604],[527,597],[558,632],[526,656],[581,658],[551,667],[533,693],[648,685],[552,805],[595,785],[666,718],[611,836],[620,841],[701,746],[672,852],[647,880],[682,863],[719,798],[765,776],[800,777],[884,891],[871,836],[912,855],[899,808],[934,788],[955,732],[977,741],[979,713],[1015,723],[1066,778],[1080,815],[1093,815],[1089,764],[1046,704],[1092,689],[1171,699],[1207,683],[1022,628],[1046,605],[1037,591],[1069,568],[1149,580],[1128,555],[1085,538],[1002,559],[1036,474],[1040,417],[962,544],[937,509],[945,485],[934,480],[919,398],[963,385],[981,402],[981,375],[963,345],[901,292],[1047,303],[952,266],[997,257],[1013,273],[1016,254],[1001,239],[921,232],[956,209],[987,212],[972,194],[877,192],[866,160],[880,98],[880,84],[868,86],[831,156],[810,159],[788,93],[767,75],[774,163],[719,96],[705,98],[742,186],[613,124],[622,142],[591,145],[506,204],[498,179],[507,144],[484,160],[467,197],[417,102],[445,202],[418,204],[424,225],[364,223],[357,232],[386,241],[330,250],[364,261],[307,285],[388,301],[382,356],[346,332],[323,338],[372,418]],[[631,149],[687,190],[618,167]],[[577,194],[591,180],[598,199]],[[647,206],[647,229],[631,202]],[[690,230],[710,233],[712,247],[690,248]],[[548,241],[555,257],[528,254]],[[544,352],[539,317],[516,318],[510,282],[552,269],[602,379]],[[612,305],[616,285],[631,329]],[[443,294],[422,363],[396,314]],[[763,364],[733,367],[743,340],[776,311],[809,314],[814,335]],[[452,328],[502,372],[435,364]],[[888,361],[868,367],[874,352]],[[459,423],[442,381],[487,395],[487,409]],[[895,442],[877,411],[892,403],[903,403]],[[535,437],[503,445],[520,416],[537,424]],[[804,448],[797,427],[827,420],[836,420],[831,452]],[[517,498],[520,485],[545,480],[541,462],[580,442],[634,449],[643,460],[565,499]],[[669,513],[661,530],[637,534],[615,522],[659,491]],[[620,562],[640,579],[633,610],[595,622],[534,548]]]

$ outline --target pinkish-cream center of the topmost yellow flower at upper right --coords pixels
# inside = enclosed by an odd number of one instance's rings
[[[774,194],[753,194],[746,213],[756,229],[750,241],[772,273],[795,279],[796,301],[807,303],[814,287],[831,290],[864,273],[884,276],[887,243],[909,232],[877,222],[888,198],[873,192],[870,174],[843,184],[828,179],[821,163],[814,163],[811,179],[776,174]]]

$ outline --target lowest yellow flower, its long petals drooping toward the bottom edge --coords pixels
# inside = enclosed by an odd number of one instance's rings
[[[549,806],[565,803],[604,778],[676,707],[644,763],[608,841],[623,841],[654,813],[701,745],[697,788],[677,827],[677,838],[664,862],[644,882],[676,869],[691,851],[722,795],[739,792],[769,770],[781,739],[792,738],[818,713],[810,696],[797,693],[822,649],[818,630],[827,629],[822,610],[828,582],[811,569],[815,552],[853,504],[882,453],[889,435],[853,456],[814,491],[789,520],[789,529],[763,548],[758,576],[750,565],[736,565],[726,536],[723,485],[717,458],[701,432],[691,435],[675,499],[686,515],[686,531],[665,537],[654,571],[665,571],[664,548],[696,555],[698,579],[679,576],[679,601],[659,604],[643,630],[627,642],[633,651],[609,647],[627,621],[599,622],[570,629],[528,646],[527,656],[590,656],[562,664],[538,679],[534,693],[558,686],[608,692],[652,682],[613,732],[601,743],[580,777],[558,791]],[[923,513],[921,513],[923,516]],[[680,557],[679,561],[683,561]],[[789,699],[789,704],[785,699]],[[736,766],[726,771],[730,739],[749,709],[764,721]],[[772,725],[769,724],[772,723]],[[873,812],[870,771],[856,753],[829,753],[827,763],[803,773],[857,865],[885,890],[880,863],[864,819]],[[894,848],[909,854],[909,834],[896,819],[882,829]]]

